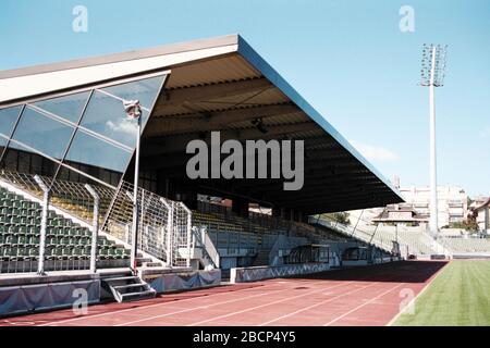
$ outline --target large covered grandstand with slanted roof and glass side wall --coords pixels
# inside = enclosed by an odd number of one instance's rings
[[[248,269],[378,263],[406,245],[438,251],[407,232],[315,216],[403,199],[237,35],[3,71],[0,80],[0,293],[16,298],[3,313],[71,303],[74,283],[91,302],[126,301],[238,282]],[[304,186],[189,178],[187,144],[212,145],[217,130],[242,144],[304,140]],[[27,283],[46,294],[56,283],[58,295],[20,300],[32,298]]]

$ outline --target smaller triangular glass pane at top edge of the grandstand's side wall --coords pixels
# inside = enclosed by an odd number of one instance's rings
[[[37,101],[34,104],[60,117],[77,123],[89,91]]]

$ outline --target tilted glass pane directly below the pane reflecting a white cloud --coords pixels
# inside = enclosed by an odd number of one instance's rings
[[[132,153],[128,151],[78,129],[66,154],[66,160],[122,173],[125,171],[131,156]]]

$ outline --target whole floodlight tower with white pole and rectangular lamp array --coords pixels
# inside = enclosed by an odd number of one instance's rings
[[[430,232],[437,237],[438,225],[438,172],[436,146],[434,87],[442,87],[445,75],[448,45],[424,45],[421,86],[429,87],[430,108]]]

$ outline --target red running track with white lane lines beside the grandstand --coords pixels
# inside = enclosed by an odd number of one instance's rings
[[[385,325],[445,265],[409,261],[0,320],[0,325]]]

